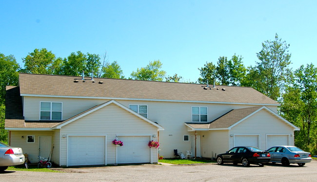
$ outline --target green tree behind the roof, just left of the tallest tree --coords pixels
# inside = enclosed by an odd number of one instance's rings
[[[242,57],[233,55],[228,62],[229,67],[229,85],[239,86],[246,75],[246,68],[242,63]]]

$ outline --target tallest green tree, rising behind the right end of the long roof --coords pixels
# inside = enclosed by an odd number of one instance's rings
[[[291,54],[289,44],[278,38],[262,43],[262,50],[257,53],[259,62],[251,69],[243,82],[243,86],[251,86],[268,97],[277,100],[284,90],[287,77],[291,74]]]

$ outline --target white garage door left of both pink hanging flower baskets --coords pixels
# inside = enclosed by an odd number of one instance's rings
[[[68,165],[105,164],[104,136],[69,136]]]

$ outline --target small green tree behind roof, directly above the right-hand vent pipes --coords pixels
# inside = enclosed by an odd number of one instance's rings
[[[209,80],[209,83],[211,81],[216,81],[216,66],[210,62],[204,64],[204,67],[201,67],[200,69],[200,77],[198,78],[198,83],[200,84],[206,84],[207,80]]]

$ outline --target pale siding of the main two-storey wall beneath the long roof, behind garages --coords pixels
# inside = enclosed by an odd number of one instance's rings
[[[53,98],[53,97],[29,97],[25,96],[25,120],[39,120],[40,101],[62,102],[63,120],[68,119],[80,112],[107,102],[104,99],[79,99],[79,98]],[[208,107],[208,121],[213,121],[219,116],[232,109],[256,107],[258,105],[236,105],[236,104],[207,104],[207,103],[184,103],[184,102],[158,102],[158,101],[133,101],[116,100],[125,107],[129,104],[147,105],[148,119],[157,122],[164,127],[159,131],[160,154],[164,158],[174,157],[173,149],[185,153],[191,149],[190,141],[183,141],[183,135],[193,135],[188,131],[185,122],[192,121],[192,107]],[[276,106],[268,106],[269,109],[277,111]],[[74,128],[76,129],[76,128]],[[80,131],[80,130],[79,130]],[[124,131],[122,131],[123,133]],[[79,132],[80,133],[80,132]],[[201,137],[201,140],[203,138]],[[203,146],[201,144],[201,146]],[[203,155],[202,151],[201,154]],[[66,155],[66,154],[61,154]],[[65,156],[61,156],[65,157]]]

